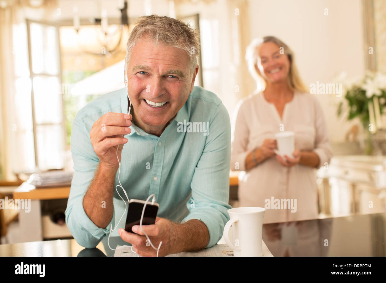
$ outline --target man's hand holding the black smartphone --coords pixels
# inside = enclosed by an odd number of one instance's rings
[[[158,256],[166,256],[171,253],[178,253],[176,249],[176,225],[168,219],[156,218],[156,224],[142,225],[142,229],[146,232],[147,236],[151,240],[151,243],[155,248],[158,248],[159,243],[162,241],[161,248],[159,249]],[[120,237],[133,245],[133,250],[140,256],[156,256],[157,250],[155,250],[145,234],[142,232],[139,225],[134,225],[132,228],[134,233],[129,233],[125,229],[118,229]]]

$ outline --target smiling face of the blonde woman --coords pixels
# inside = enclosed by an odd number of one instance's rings
[[[257,72],[268,82],[281,82],[289,74],[288,56],[283,54],[284,49],[274,42],[264,42],[257,49]]]

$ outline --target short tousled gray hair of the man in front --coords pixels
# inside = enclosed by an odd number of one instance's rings
[[[166,46],[185,50],[190,58],[189,70],[192,75],[194,74],[197,59],[200,56],[200,34],[198,30],[194,30],[189,24],[181,20],[157,15],[142,16],[135,22],[135,27],[127,40],[125,72],[127,72],[127,65],[134,46],[144,37],[149,37],[156,44],[161,42]]]

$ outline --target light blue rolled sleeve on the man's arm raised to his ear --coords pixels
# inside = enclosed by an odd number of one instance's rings
[[[115,215],[113,213],[110,223],[103,229],[91,221],[83,208],[83,197],[94,177],[99,159],[93,150],[89,132],[78,117],[74,119],[72,126],[71,154],[74,176],[65,211],[66,223],[78,244],[85,248],[95,248],[103,236],[110,233],[110,225],[114,228]]]

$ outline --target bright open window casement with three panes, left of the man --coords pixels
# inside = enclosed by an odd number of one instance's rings
[[[36,167],[61,169],[65,139],[58,27],[27,20],[27,39]]]

